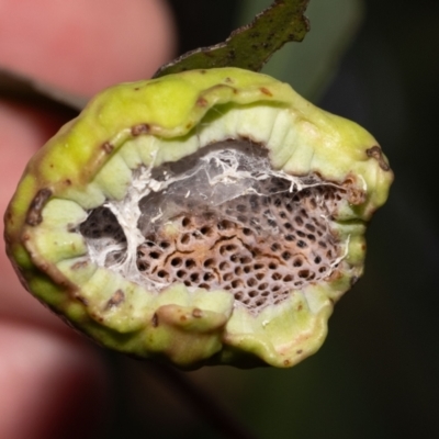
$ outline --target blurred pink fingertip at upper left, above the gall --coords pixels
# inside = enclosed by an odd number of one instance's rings
[[[175,45],[165,0],[0,2],[0,65],[70,92],[149,78]]]

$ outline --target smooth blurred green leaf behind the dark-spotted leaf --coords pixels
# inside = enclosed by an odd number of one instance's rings
[[[235,26],[246,23],[270,0],[243,0]],[[306,9],[312,30],[301,44],[286,44],[261,72],[289,82],[295,91],[317,100],[337,74],[342,56],[356,40],[364,15],[363,0],[313,0]]]

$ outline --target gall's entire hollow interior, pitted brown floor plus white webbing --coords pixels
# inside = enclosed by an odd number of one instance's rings
[[[90,258],[157,293],[178,282],[227,290],[255,314],[325,282],[341,258],[331,218],[350,185],[275,172],[263,150],[226,146],[158,168],[122,207],[91,211],[79,227]]]

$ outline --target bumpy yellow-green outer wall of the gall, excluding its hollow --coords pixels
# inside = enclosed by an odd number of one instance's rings
[[[234,138],[263,145],[273,169],[349,187],[333,218],[346,254],[330,277],[252,315],[226,291],[176,283],[157,294],[88,258],[72,230],[89,210],[126,194],[133,169]],[[33,295],[106,347],[187,369],[291,367],[320,347],[334,303],[361,275],[364,224],[392,180],[368,132],[286,83],[236,68],[192,70],[110,88],[61,127],[29,162],[5,212],[7,251]]]

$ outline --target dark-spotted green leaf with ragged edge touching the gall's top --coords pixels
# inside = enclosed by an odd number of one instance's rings
[[[239,67],[259,71],[288,42],[301,42],[309,30],[304,15],[309,0],[275,0],[224,42],[189,52],[161,67],[155,78],[193,69]]]

